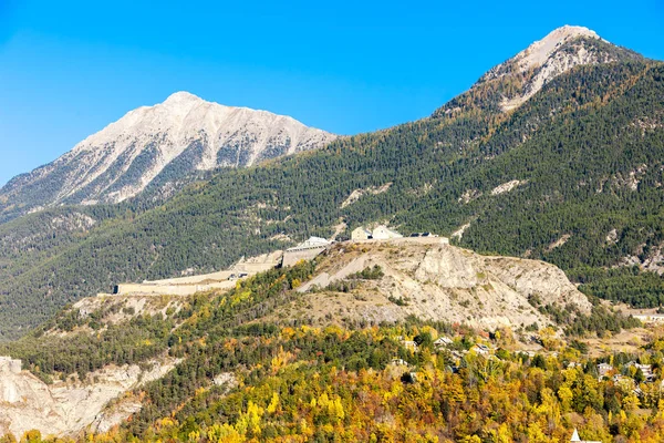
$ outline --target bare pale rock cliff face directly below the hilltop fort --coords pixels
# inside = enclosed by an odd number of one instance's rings
[[[311,310],[295,306],[280,315],[321,320],[328,316],[372,322],[403,320],[408,316],[446,320],[475,327],[540,327],[552,323],[530,300],[588,313],[591,303],[564,272],[553,265],[511,257],[487,257],[450,246],[439,238],[403,238],[338,247],[324,258],[320,272],[304,284],[334,287],[354,272],[380,266],[384,276],[362,284],[349,293],[326,290],[309,296]]]

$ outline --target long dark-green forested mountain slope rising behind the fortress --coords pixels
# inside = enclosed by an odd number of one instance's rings
[[[663,303],[664,65],[569,32],[546,60],[590,64],[511,110],[506,97],[528,94],[547,62],[523,73],[517,55],[430,117],[225,171],[157,207],[54,207],[0,225],[0,337],[117,282],[205,274],[372,223],[456,233],[479,253],[554,264],[587,293]]]

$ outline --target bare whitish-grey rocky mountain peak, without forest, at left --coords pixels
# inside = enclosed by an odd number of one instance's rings
[[[61,205],[118,203],[146,187],[168,190],[187,174],[250,166],[325,145],[335,136],[283,115],[177,92],[128,112],[53,163],[0,189],[8,218]]]

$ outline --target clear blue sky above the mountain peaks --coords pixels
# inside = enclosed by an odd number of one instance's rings
[[[562,24],[664,59],[664,0],[0,0],[0,184],[181,90],[340,134],[423,117]]]

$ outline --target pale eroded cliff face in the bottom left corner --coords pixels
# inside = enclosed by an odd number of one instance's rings
[[[151,361],[145,371],[136,364],[106,367],[91,373],[85,383],[70,380],[49,385],[21,371],[17,362],[0,358],[0,435],[11,432],[17,437],[30,430],[74,435],[91,423],[94,430],[107,430],[141,409],[139,402],[128,399],[107,411],[110,401],[163,377],[177,363]]]

